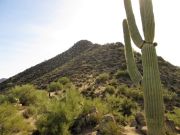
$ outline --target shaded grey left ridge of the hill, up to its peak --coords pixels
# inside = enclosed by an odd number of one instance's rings
[[[14,86],[13,83],[15,83],[16,85],[21,85],[27,82],[30,83],[32,80],[34,80],[34,78],[40,77],[43,74],[55,69],[56,67],[63,65],[65,62],[69,61],[73,57],[76,57],[77,55],[79,55],[78,54],[79,52],[82,53],[83,51],[88,49],[91,45],[93,46],[93,44],[87,40],[78,41],[67,51],[8,78],[4,82],[5,85],[3,86],[0,85],[0,90],[5,89],[6,87]]]

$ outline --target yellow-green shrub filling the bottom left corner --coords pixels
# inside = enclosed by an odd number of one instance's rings
[[[0,107],[0,133],[12,135],[19,132],[27,134],[31,127],[18,114],[17,108],[11,104],[2,104]]]

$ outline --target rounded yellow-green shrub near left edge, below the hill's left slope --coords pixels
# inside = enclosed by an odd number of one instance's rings
[[[36,88],[33,85],[15,86],[11,89],[11,94],[19,99],[22,105],[30,105],[36,102]]]

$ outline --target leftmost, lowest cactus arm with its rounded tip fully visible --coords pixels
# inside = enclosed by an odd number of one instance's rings
[[[123,20],[123,31],[124,31],[124,42],[125,42],[125,58],[126,58],[128,73],[133,83],[138,85],[139,82],[142,80],[142,76],[138,71],[138,68],[134,60],[133,51],[131,47],[131,40],[129,35],[129,28],[126,19]]]

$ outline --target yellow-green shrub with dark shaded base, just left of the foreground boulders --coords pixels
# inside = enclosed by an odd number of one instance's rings
[[[92,100],[85,99],[82,112],[70,127],[71,133],[80,134],[87,128],[93,129],[108,112],[109,108],[102,100],[98,98]]]

